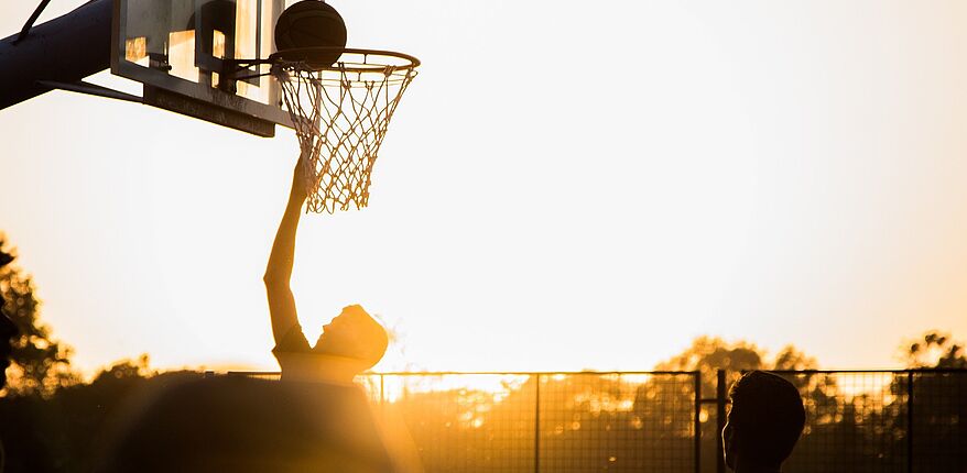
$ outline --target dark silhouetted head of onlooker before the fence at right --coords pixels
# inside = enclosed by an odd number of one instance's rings
[[[803,398],[789,381],[753,371],[729,389],[721,431],[726,464],[736,472],[778,472],[806,422]]]

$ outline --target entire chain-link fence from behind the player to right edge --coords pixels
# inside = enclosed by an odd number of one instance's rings
[[[806,407],[783,471],[967,473],[967,370],[775,373],[798,387]],[[725,393],[738,375],[382,373],[359,381],[379,409],[401,416],[426,472],[719,473]]]

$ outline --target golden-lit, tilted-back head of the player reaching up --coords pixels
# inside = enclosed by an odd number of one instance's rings
[[[354,305],[343,308],[339,316],[323,327],[313,350],[354,360],[361,372],[379,363],[388,344],[385,329],[361,306]]]

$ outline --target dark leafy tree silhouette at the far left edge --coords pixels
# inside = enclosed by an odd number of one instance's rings
[[[15,254],[0,234],[0,260],[12,262]],[[4,392],[13,395],[50,396],[57,387],[77,383],[70,367],[73,350],[53,339],[50,326],[40,320],[41,301],[30,275],[15,264],[0,265],[0,297],[6,314],[20,334],[13,340],[12,364]],[[2,392],[0,392],[2,393]]]

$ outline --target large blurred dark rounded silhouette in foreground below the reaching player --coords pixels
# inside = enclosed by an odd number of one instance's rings
[[[120,409],[98,473],[383,473],[357,387],[218,376],[164,383]]]

